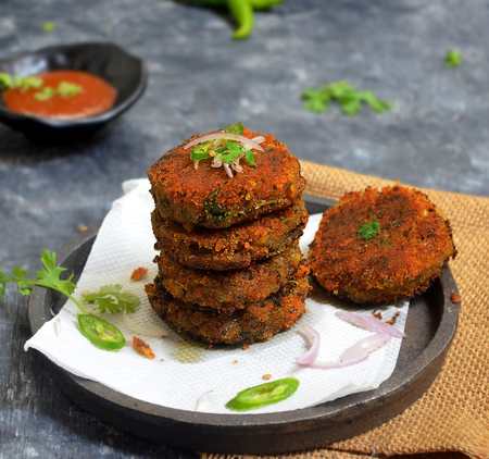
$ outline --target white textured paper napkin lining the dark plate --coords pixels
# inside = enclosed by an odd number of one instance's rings
[[[348,368],[317,370],[296,365],[294,359],[305,351],[304,340],[297,333],[303,324],[321,333],[319,358],[328,361],[369,334],[337,319],[338,306],[314,296],[308,298],[308,311],[294,328],[247,350],[205,349],[184,340],[154,314],[145,294],[145,282],[150,282],[156,274],[152,262],[155,252],[149,183],[146,179],[128,181],[123,184],[123,190],[124,196],[113,202],[102,223],[76,294],[97,290],[105,284],[122,284],[126,290],[138,295],[141,305],[137,313],[106,315],[106,319],[123,331],[128,343],[136,331],[150,344],[156,358],[145,359],[130,346],[118,352],[93,347],[78,332],[77,311],[71,301],[26,342],[26,350],[33,347],[63,369],[130,397],[171,408],[215,413],[229,413],[225,404],[237,392],[263,383],[263,375],[272,375],[272,380],[294,375],[300,380],[300,386],[289,399],[254,412],[293,410],[371,390],[391,375],[401,339],[390,339],[364,362]],[[301,238],[303,251],[313,240],[319,221],[319,214],[310,218]],[[138,266],[149,269],[148,280],[130,282],[129,276]],[[388,318],[399,311],[396,326],[403,330],[408,305],[403,301],[386,307],[383,314]],[[143,336],[142,331],[149,331],[152,336]],[[166,337],[155,337],[161,334]]]

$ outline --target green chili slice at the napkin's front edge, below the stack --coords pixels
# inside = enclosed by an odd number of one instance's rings
[[[284,377],[239,392],[226,404],[234,411],[249,411],[289,398],[299,387],[296,377]]]

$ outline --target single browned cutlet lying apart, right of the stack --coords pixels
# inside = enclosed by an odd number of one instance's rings
[[[450,224],[428,197],[393,186],[349,193],[326,210],[310,263],[330,294],[386,303],[426,290],[454,256]]]

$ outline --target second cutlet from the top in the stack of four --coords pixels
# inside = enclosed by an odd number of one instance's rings
[[[193,269],[214,271],[248,268],[252,262],[284,251],[302,235],[308,221],[304,202],[264,215],[253,222],[224,230],[195,228],[151,214],[155,248],[178,263]]]

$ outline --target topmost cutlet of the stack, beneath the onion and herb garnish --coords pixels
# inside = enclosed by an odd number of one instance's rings
[[[244,129],[252,138],[258,133]],[[264,151],[254,151],[255,165],[242,162],[242,173],[228,177],[211,161],[200,161],[196,169],[191,149],[183,145],[156,161],[148,171],[151,194],[160,214],[186,228],[204,226],[224,228],[285,209],[302,194],[305,181],[300,164],[285,144],[264,136]]]

